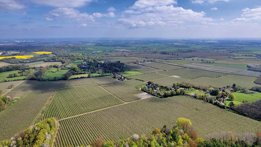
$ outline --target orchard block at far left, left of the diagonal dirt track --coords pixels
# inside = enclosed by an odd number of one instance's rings
[[[0,140],[10,139],[31,126],[51,94],[52,92],[8,92],[5,96],[19,97],[20,100],[0,112]]]

